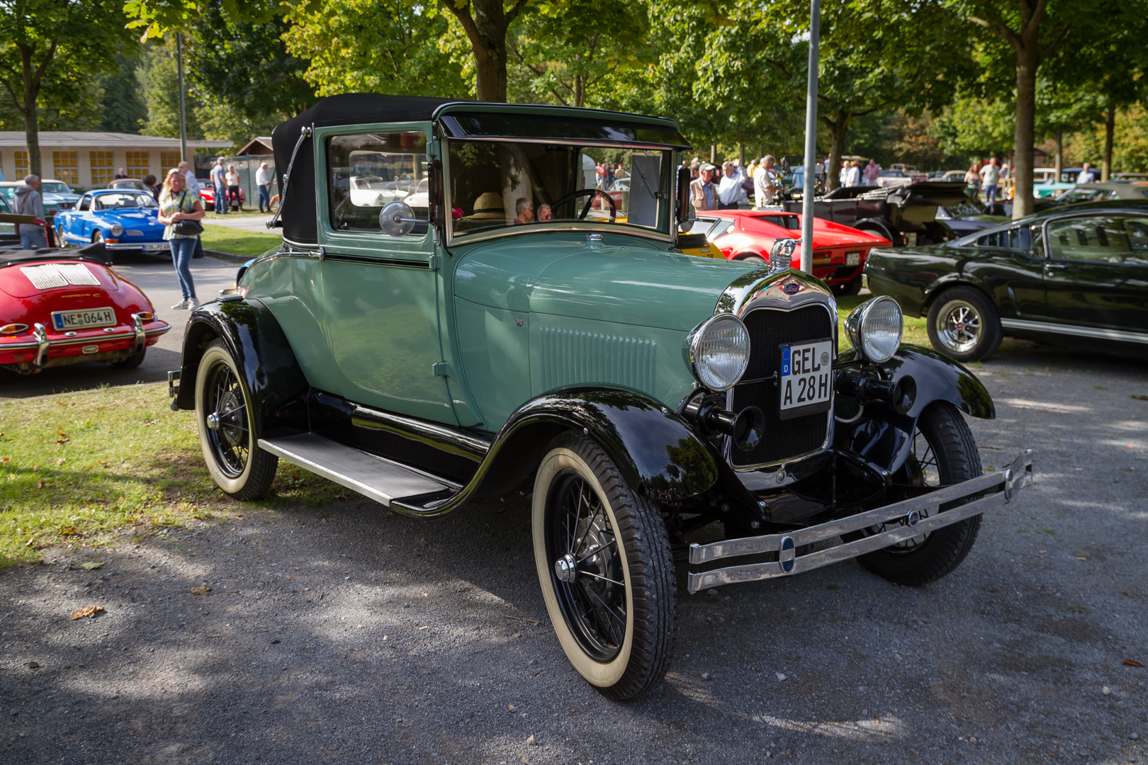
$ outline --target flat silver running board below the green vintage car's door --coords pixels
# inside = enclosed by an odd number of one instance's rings
[[[388,507],[398,499],[410,502],[418,498],[416,505],[448,499],[461,489],[445,478],[344,446],[313,432],[261,438],[259,448]]]

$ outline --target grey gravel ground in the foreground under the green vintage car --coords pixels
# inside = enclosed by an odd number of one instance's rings
[[[1145,367],[1022,346],[977,372],[983,461],[1031,446],[1037,485],[941,581],[846,562],[680,590],[669,674],[620,704],[546,623],[522,499],[251,508],[99,570],[61,551],[0,573],[2,759],[1148,762],[1148,669],[1124,664],[1148,664]]]

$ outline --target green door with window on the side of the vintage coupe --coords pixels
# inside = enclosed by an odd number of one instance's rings
[[[316,131],[323,333],[333,367],[321,388],[388,412],[457,424],[440,337],[433,232],[385,233],[379,213],[416,193],[428,167],[414,125]],[[413,210],[421,220],[427,209]],[[470,423],[467,423],[470,424]]]

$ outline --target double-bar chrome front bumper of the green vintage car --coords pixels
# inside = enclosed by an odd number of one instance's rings
[[[690,545],[689,591],[692,594],[720,585],[786,577],[864,555],[866,553],[895,545],[899,541],[936,531],[974,515],[979,515],[991,507],[1004,505],[1013,499],[1013,495],[1019,489],[1031,485],[1032,450],[1029,450],[1003,470],[986,473],[976,478],[939,489],[922,497],[914,497],[913,499],[851,515],[838,521],[830,521],[816,526],[809,526],[808,529],[798,529],[779,534],[727,539],[709,545],[693,544]],[[977,494],[984,494],[984,497],[945,510],[944,513],[938,512],[941,505]],[[922,510],[930,510],[932,514],[929,517],[922,517]],[[809,545],[853,531],[861,531],[862,529],[898,521],[900,521],[900,525],[897,528],[872,534],[871,537],[841,542],[806,555],[797,554],[797,548],[802,545]],[[712,571],[697,570],[700,564],[708,561],[771,552],[777,553],[777,561],[731,565]]]

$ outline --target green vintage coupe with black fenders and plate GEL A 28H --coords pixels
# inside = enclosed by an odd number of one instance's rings
[[[282,247],[192,313],[171,374],[212,477],[257,498],[285,459],[427,517],[530,493],[558,640],[610,697],[666,672],[675,561],[690,593],[856,556],[922,584],[1031,479],[982,475],[961,413],[992,400],[899,346],[893,300],[838,354],[792,241],[771,267],[676,251],[669,119],[351,94],[273,139]],[[619,200],[587,187],[604,158]]]

